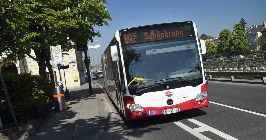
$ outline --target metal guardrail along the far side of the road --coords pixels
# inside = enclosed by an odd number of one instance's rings
[[[205,71],[205,72],[210,79],[212,79],[212,75],[230,76],[232,81],[234,81],[234,76],[262,77],[263,83],[266,83],[266,71]]]

